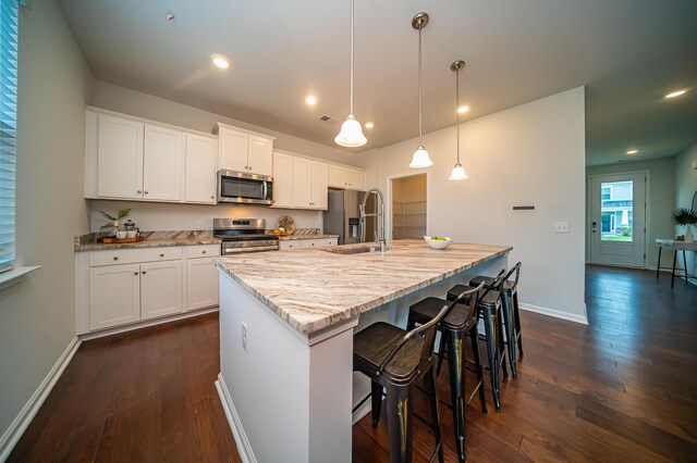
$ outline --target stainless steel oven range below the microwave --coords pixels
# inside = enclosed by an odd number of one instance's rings
[[[222,239],[221,255],[279,250],[279,237],[266,233],[264,218],[213,218],[213,236]]]

